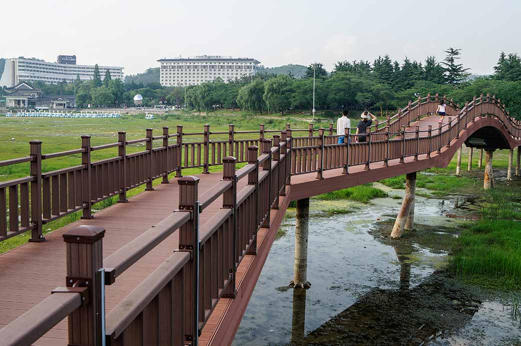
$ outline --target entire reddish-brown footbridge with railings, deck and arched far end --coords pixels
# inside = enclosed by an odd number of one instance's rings
[[[461,109],[446,100],[443,123],[432,115],[438,100],[418,98],[375,122],[363,143],[346,134],[337,144],[344,135],[332,125],[312,124],[199,133],[178,126],[132,141],[119,132],[118,142],[100,146],[83,136],[80,149],[46,155],[32,141],[30,156],[0,162],[31,167],[29,177],[0,183],[0,241],[32,234],[0,256],[0,345],[230,344],[290,201],[444,167],[464,143],[521,145],[520,123],[494,96]],[[190,141],[196,136],[203,141]],[[128,154],[134,143],[146,150]],[[91,161],[111,147],[118,156]],[[44,160],[72,154],[81,165],[42,172]],[[212,165],[222,172],[209,173]],[[195,167],[203,174],[181,178]],[[164,184],[153,187],[158,178]],[[150,192],[127,200],[143,184]],[[93,217],[93,205],[113,196],[123,203]],[[82,220],[43,237],[43,225],[79,211]]]

